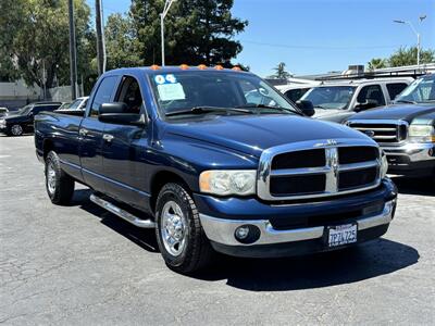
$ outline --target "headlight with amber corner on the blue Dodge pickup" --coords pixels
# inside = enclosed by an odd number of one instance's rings
[[[256,193],[256,170],[212,170],[199,176],[199,189],[219,196]]]

